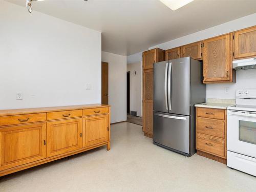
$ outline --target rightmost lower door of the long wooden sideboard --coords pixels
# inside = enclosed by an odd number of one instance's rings
[[[109,140],[109,115],[83,117],[83,147]]]

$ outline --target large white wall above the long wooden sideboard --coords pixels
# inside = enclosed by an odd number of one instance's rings
[[[2,0],[0,23],[0,109],[101,102],[100,32]]]

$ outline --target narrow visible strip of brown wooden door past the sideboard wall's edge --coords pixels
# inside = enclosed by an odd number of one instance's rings
[[[109,63],[101,62],[101,104],[109,104]]]

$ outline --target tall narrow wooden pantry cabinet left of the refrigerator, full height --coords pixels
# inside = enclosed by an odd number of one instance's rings
[[[153,63],[164,60],[164,50],[152,49],[143,52],[143,132],[153,137]]]

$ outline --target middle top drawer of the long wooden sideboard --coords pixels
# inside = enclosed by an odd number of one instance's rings
[[[81,116],[82,116],[82,110],[49,112],[47,113],[47,120],[67,119],[67,118],[81,117]]]

